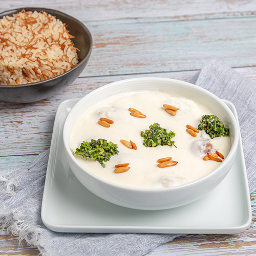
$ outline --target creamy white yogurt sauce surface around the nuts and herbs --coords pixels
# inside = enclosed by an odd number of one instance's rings
[[[175,116],[165,112],[163,104],[176,106],[179,110]],[[134,108],[146,115],[137,118],[130,115],[129,108]],[[105,162],[103,168],[92,159],[86,160],[75,155],[77,161],[94,175],[107,181],[136,188],[164,188],[182,185],[197,180],[220,165],[213,160],[204,161],[205,153],[200,148],[201,142],[209,141],[214,150],[225,157],[230,151],[230,138],[218,137],[210,139],[204,131],[199,131],[197,137],[186,132],[186,125],[197,127],[201,117],[214,114],[205,105],[188,98],[172,97],[158,91],[142,93],[123,93],[115,95],[88,108],[75,122],[70,136],[70,148],[74,151],[80,143],[91,139],[106,139],[118,145],[119,154]],[[114,121],[109,128],[98,124],[101,117]],[[153,123],[159,123],[167,132],[175,132],[175,146],[145,147],[141,131],[149,129]],[[136,143],[137,150],[127,148],[120,139]],[[178,161],[175,166],[157,167],[157,160],[172,157]],[[125,173],[114,173],[115,165],[130,163],[130,169]]]

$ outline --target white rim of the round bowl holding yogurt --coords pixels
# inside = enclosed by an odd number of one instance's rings
[[[185,82],[182,80],[178,80],[178,79],[172,79],[172,78],[162,78],[162,77],[139,77],[139,78],[129,78],[129,79],[122,79],[119,81],[115,81],[115,82],[111,82],[108,84],[105,84],[102,87],[99,87],[97,89],[95,89],[94,91],[90,92],[89,94],[87,94],[86,96],[82,97],[71,109],[71,111],[69,112],[65,123],[63,125],[63,132],[62,132],[62,139],[63,139],[63,144],[64,144],[64,148],[66,151],[66,154],[69,155],[69,157],[72,159],[73,163],[79,167],[80,169],[83,170],[83,172],[85,172],[86,174],[88,174],[89,176],[91,176],[92,178],[96,179],[99,182],[102,182],[103,184],[106,184],[108,186],[114,187],[114,188],[119,188],[119,189],[123,189],[125,191],[133,191],[133,192],[137,192],[137,193],[163,193],[163,192],[167,192],[167,191],[178,191],[178,190],[182,190],[184,188],[189,188],[189,187],[193,187],[196,184],[201,184],[202,182],[204,182],[204,180],[209,179],[211,176],[216,175],[216,173],[219,172],[220,168],[223,168],[223,165],[227,165],[228,161],[223,161],[221,163],[221,165],[219,165],[217,168],[215,168],[214,170],[212,170],[209,174],[195,180],[195,181],[191,181],[179,186],[174,186],[174,187],[166,187],[166,188],[137,188],[137,187],[129,187],[129,186],[123,186],[123,185],[119,185],[107,180],[104,180],[96,175],[94,175],[93,173],[91,173],[89,170],[87,170],[86,168],[84,168],[78,161],[75,160],[70,147],[69,147],[69,138],[67,136],[65,136],[65,134],[67,133],[67,126],[68,126],[68,122],[69,119],[71,119],[72,114],[76,111],[76,109],[80,108],[80,105],[83,104],[84,101],[87,100],[88,97],[91,97],[91,95],[93,94],[97,94],[99,91],[101,90],[105,90],[108,89],[109,87],[115,86],[116,84],[119,83],[123,83],[123,82],[129,82],[129,81],[136,81],[136,80],[162,80],[162,81],[169,81],[169,82],[178,82],[181,84],[184,84],[185,86],[188,86],[190,88],[193,88],[195,90],[201,91],[207,95],[209,95],[210,97],[214,98],[215,100],[218,101],[218,103],[222,106],[222,108],[224,108],[226,110],[226,112],[229,114],[230,119],[232,120],[232,123],[234,124],[234,138],[233,138],[233,144],[230,148],[230,151],[227,155],[227,157],[225,158],[225,160],[229,160],[230,158],[232,158],[233,154],[237,153],[237,149],[238,149],[238,144],[239,144],[239,134],[240,134],[240,130],[239,130],[239,123],[237,122],[236,118],[234,117],[233,113],[231,112],[231,110],[228,108],[228,106],[219,98],[217,97],[215,94],[207,91],[206,89],[203,89],[199,86],[196,86],[195,84],[189,83],[189,82]]]

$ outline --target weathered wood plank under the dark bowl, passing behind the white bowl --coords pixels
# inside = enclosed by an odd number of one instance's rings
[[[236,69],[256,82],[256,68]],[[121,79],[155,76],[188,81],[197,71],[169,72],[141,75],[78,78],[70,87],[50,99],[31,104],[0,102],[0,166],[18,166],[15,160],[10,164],[4,156],[37,155],[50,147],[54,117],[61,101],[81,98],[104,84]],[[10,119],[11,117],[11,119]],[[8,164],[9,163],[9,164]],[[30,161],[28,162],[28,164]],[[26,162],[24,161],[24,164]]]

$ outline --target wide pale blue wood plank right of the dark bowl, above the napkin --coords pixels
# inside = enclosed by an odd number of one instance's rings
[[[211,57],[256,66],[256,17],[88,27],[94,47],[81,76],[199,70]]]

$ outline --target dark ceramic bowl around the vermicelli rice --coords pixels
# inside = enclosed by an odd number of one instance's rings
[[[17,86],[5,86],[0,84],[0,100],[5,102],[30,103],[46,99],[62,91],[80,75],[86,67],[92,52],[93,39],[89,29],[79,22],[79,20],[60,11],[46,8],[24,7],[2,12],[0,13],[0,18],[3,18],[5,15],[12,16],[13,13],[22,11],[23,9],[26,11],[45,11],[56,16],[62,23],[65,23],[68,26],[67,29],[70,31],[70,34],[74,36],[72,41],[75,47],[80,50],[77,52],[79,62],[71,70],[44,81],[20,84]]]

